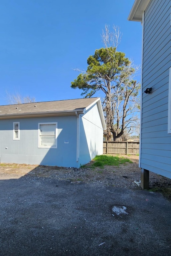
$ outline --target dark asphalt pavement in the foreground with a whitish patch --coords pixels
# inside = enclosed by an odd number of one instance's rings
[[[171,255],[160,193],[24,176],[0,180],[0,202],[1,256]]]

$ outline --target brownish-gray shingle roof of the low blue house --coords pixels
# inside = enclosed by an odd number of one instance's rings
[[[74,111],[87,108],[99,98],[82,98],[76,100],[45,101],[25,104],[0,106],[0,116],[5,114],[24,114],[53,111]]]

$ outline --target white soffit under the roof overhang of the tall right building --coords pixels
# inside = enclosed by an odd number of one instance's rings
[[[134,5],[128,16],[128,20],[142,22],[143,11],[145,11],[150,1],[151,0],[135,0]]]

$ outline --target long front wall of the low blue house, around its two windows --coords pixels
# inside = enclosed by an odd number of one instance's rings
[[[20,122],[20,140],[13,140],[15,121]],[[57,148],[38,148],[38,123],[48,122],[57,122]],[[1,162],[77,167],[76,141],[76,116],[0,120]]]

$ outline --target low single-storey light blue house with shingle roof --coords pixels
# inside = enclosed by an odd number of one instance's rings
[[[80,167],[103,154],[100,98],[0,106],[0,162]]]

